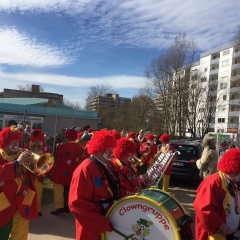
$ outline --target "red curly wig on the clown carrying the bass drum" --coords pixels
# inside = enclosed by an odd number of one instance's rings
[[[96,154],[116,147],[116,138],[107,130],[97,131],[89,141],[88,153]]]

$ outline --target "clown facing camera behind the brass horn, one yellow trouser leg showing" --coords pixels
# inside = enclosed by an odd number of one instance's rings
[[[44,143],[44,133],[40,129],[34,129],[30,133],[30,142],[26,143],[23,148],[30,150],[37,155],[50,153],[50,146]],[[37,190],[38,199],[38,216],[42,216],[42,193],[45,175],[35,176],[34,184]]]

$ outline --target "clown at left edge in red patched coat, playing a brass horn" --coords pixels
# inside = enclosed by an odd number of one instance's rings
[[[22,164],[31,156],[19,151],[22,132],[6,127],[0,132],[0,239],[27,240],[29,220],[38,217],[34,175]]]

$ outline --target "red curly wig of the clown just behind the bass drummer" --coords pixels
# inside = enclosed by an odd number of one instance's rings
[[[117,146],[113,149],[114,157],[118,159],[122,159],[129,153],[136,152],[136,145],[134,142],[129,140],[128,138],[121,138],[117,141]]]

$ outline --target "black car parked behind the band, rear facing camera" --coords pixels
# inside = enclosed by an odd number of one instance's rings
[[[177,153],[173,159],[171,178],[200,180],[196,161],[202,156],[202,143],[197,141],[171,141]]]

